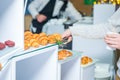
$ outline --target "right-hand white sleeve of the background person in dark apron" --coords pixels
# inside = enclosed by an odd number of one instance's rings
[[[82,15],[75,9],[73,4],[69,1],[67,8],[66,8],[66,14],[72,19],[72,20],[81,20]]]

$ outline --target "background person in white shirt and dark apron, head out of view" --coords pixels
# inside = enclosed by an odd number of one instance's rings
[[[33,0],[28,6],[28,10],[33,18],[31,25],[33,33],[40,33],[42,27],[50,19],[57,18],[61,11],[64,11],[70,19],[82,19],[81,14],[69,0]]]

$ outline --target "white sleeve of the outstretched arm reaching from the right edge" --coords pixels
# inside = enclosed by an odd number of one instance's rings
[[[107,32],[120,32],[120,8],[107,23],[96,25],[79,25],[70,27],[72,35],[86,38],[103,38]]]

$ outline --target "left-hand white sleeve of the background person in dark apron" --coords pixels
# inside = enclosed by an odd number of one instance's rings
[[[34,0],[28,6],[28,10],[34,19],[36,18],[36,15],[39,14],[37,9],[41,4],[40,2],[41,2],[40,0]]]

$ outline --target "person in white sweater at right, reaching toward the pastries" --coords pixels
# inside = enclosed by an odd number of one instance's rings
[[[117,34],[106,35],[107,32],[115,32]],[[113,48],[120,49],[120,8],[108,19],[107,22],[90,26],[74,26],[66,30],[62,37],[69,37],[68,42],[72,40],[72,36],[77,35],[85,38],[104,38],[105,42]],[[117,75],[120,79],[120,59],[117,63]]]

